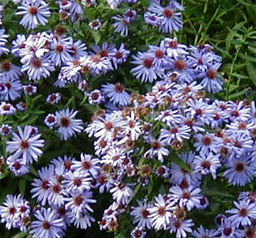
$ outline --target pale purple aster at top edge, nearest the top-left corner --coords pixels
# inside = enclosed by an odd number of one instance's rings
[[[18,6],[17,9],[20,11],[16,12],[16,15],[24,15],[20,24],[28,29],[34,29],[38,24],[45,26],[48,22],[47,17],[51,16],[47,3],[41,0],[30,0],[28,4]]]

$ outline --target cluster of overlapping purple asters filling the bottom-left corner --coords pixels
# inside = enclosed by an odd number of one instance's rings
[[[21,195],[7,195],[0,206],[1,222],[7,229],[29,230],[33,237],[41,238],[63,237],[71,224],[81,229],[90,227],[95,221],[90,204],[96,202],[90,189],[99,169],[99,160],[85,154],[80,160],[68,156],[52,160],[32,182],[32,198],[37,199],[38,206],[32,208]]]

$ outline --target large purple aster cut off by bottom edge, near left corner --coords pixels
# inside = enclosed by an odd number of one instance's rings
[[[38,210],[34,216],[36,220],[31,224],[33,237],[38,238],[61,238],[64,235],[64,221],[58,218],[51,208]]]

